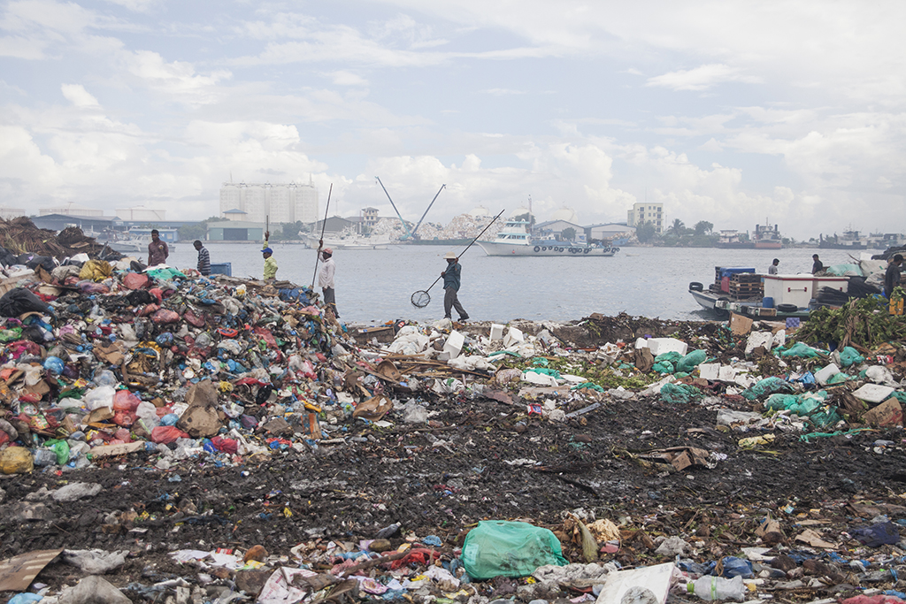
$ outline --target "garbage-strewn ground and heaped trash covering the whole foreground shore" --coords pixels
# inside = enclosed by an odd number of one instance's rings
[[[861,308],[356,332],[293,283],[57,267],[0,298],[0,590],[904,601],[903,318]]]

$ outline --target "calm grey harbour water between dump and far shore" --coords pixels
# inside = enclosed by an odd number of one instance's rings
[[[233,264],[233,276],[261,278],[260,244],[208,242],[212,263]],[[297,244],[273,244],[278,279],[310,285],[314,250]],[[461,248],[453,251],[459,252]],[[442,282],[429,291],[424,309],[410,303],[412,292],[438,278],[447,262],[441,245],[400,245],[387,250],[336,250],[337,307],[343,321],[382,323],[394,319],[437,319],[443,316]],[[869,250],[879,254],[881,250]],[[614,315],[704,320],[715,317],[689,295],[689,282],[714,281],[715,266],[749,266],[761,273],[774,258],[780,273],[809,273],[812,254],[824,265],[851,263],[843,250],[793,248],[724,250],[718,248],[623,247],[612,258],[487,256],[476,245],[460,260],[459,301],[474,321],[574,321],[593,312]],[[147,258],[145,258],[147,260]],[[189,242],[170,254],[176,266],[198,264]]]

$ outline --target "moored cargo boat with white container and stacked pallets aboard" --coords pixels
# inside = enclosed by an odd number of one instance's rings
[[[689,283],[689,293],[699,306],[718,316],[731,312],[752,317],[807,318],[814,298],[823,288],[846,292],[846,277],[802,274],[759,274],[754,268],[714,267],[714,283]]]

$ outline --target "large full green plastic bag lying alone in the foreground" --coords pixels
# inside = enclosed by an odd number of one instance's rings
[[[565,566],[560,542],[553,532],[529,523],[486,520],[466,535],[462,564],[475,580],[527,577],[540,566]]]

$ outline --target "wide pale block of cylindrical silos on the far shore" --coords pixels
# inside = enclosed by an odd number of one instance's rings
[[[224,183],[220,187],[220,216],[231,210],[245,212],[243,220],[272,225],[313,223],[318,219],[318,189],[313,184]]]

